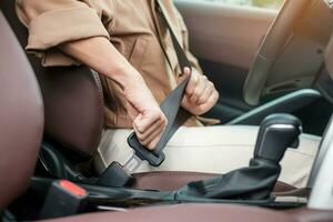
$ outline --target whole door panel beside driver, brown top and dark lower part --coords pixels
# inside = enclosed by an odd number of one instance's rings
[[[229,6],[206,0],[174,0],[190,32],[198,57],[221,97],[208,113],[226,122],[251,109],[242,97],[255,51],[278,11]]]

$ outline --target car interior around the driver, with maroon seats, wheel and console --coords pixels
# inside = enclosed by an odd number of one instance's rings
[[[84,65],[42,67],[24,52],[28,31],[16,2],[0,0],[2,221],[333,221],[332,1],[286,0],[279,12],[174,2],[193,53],[223,94],[206,117],[260,127],[249,167],[228,176],[134,173],[124,186],[114,185],[123,174],[112,165],[98,174],[99,74]],[[322,142],[306,188],[296,189],[278,181],[279,162],[302,131]],[[214,194],[186,186],[216,176]]]

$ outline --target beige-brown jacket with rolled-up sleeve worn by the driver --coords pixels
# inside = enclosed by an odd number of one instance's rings
[[[193,69],[201,73],[189,51],[188,30],[172,3],[162,0],[169,21]],[[178,82],[181,70],[155,0],[17,0],[17,12],[29,28],[27,50],[43,65],[73,65],[77,61],[57,46],[91,37],[108,38],[142,74],[160,103]],[[131,128],[118,85],[101,75],[105,99],[105,127]],[[192,117],[186,125],[200,125]]]

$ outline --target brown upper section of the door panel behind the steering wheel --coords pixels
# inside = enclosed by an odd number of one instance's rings
[[[205,0],[175,0],[200,59],[249,69],[275,10],[234,7]]]

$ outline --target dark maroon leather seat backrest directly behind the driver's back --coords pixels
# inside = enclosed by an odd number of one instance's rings
[[[0,7],[22,47],[28,31],[16,14],[14,0]],[[64,149],[84,157],[98,148],[103,129],[103,94],[99,75],[85,67],[44,68],[28,54],[40,83],[46,112],[44,133]],[[59,147],[60,147],[59,145]]]

